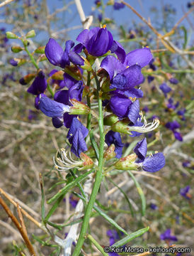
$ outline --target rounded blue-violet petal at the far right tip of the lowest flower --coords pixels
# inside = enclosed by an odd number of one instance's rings
[[[144,159],[144,162],[142,163],[142,168],[144,171],[149,172],[156,172],[162,169],[165,166],[165,158],[164,154],[162,153],[156,153],[153,156],[149,156],[146,159]]]

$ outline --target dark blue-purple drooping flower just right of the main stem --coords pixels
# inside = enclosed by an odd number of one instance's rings
[[[120,157],[122,156],[122,148],[124,146],[121,141],[120,133],[109,131],[107,134],[105,134],[105,143],[108,144],[108,146],[110,146],[111,144],[115,145],[115,157],[120,159]]]

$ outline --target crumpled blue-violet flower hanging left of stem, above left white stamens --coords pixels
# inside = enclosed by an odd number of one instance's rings
[[[85,138],[88,135],[89,130],[84,127],[83,124],[74,117],[69,132],[67,134],[67,139],[72,144],[71,151],[79,157],[81,152],[87,151],[87,146],[85,142]]]

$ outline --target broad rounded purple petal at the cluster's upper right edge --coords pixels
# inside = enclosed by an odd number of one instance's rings
[[[141,68],[148,65],[153,56],[149,48],[132,50],[126,55],[125,65],[139,65]]]

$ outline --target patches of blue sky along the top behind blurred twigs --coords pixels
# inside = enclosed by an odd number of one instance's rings
[[[50,12],[54,11],[54,9],[62,7],[64,4],[64,1],[61,0],[47,0],[49,4]],[[67,3],[69,1],[66,1]],[[107,2],[104,0],[104,2]],[[151,21],[156,21],[156,16],[150,11],[152,7],[155,7],[159,10],[158,12],[158,20],[161,21],[162,18],[162,6],[165,4],[171,4],[173,8],[176,9],[176,15],[175,15],[175,22],[178,21],[179,18],[183,16],[183,9],[185,11],[188,11],[186,0],[126,0],[126,2],[130,3],[132,7],[134,7],[139,14],[144,16],[144,18],[151,18]],[[89,0],[82,0],[81,4],[84,8],[84,12],[86,16],[89,16],[92,12],[93,7],[95,6],[94,1]],[[98,11],[95,11],[96,14],[98,14]],[[62,22],[67,23],[68,18],[74,14],[73,20],[71,19],[69,22],[69,26],[77,26],[80,25],[79,15],[76,14],[76,6],[72,5],[69,9],[69,15],[67,14],[66,17],[64,17],[64,21],[62,19]],[[113,11],[113,6],[108,6],[105,12],[105,16],[108,18],[115,18],[115,21],[118,25],[122,24],[127,28],[132,27],[132,21],[136,22],[142,22],[133,12],[125,6],[124,9],[120,9],[119,11]],[[191,18],[192,20],[192,18]],[[189,27],[188,21],[186,19],[182,23],[184,26]],[[172,24],[173,25],[173,24]],[[81,31],[81,29],[77,29],[74,31],[71,31],[69,34],[72,38],[72,40],[75,40],[76,35]]]

